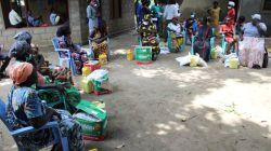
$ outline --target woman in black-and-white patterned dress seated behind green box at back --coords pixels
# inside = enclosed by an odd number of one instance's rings
[[[139,27],[139,33],[142,39],[143,46],[152,46],[152,59],[156,60],[159,53],[159,42],[156,39],[157,30],[155,25],[152,23],[152,15],[146,14],[144,15],[143,23]]]

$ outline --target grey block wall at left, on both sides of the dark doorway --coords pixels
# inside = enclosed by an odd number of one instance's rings
[[[118,33],[129,30],[134,27],[133,19],[133,3],[132,0],[121,0],[122,2],[122,17],[118,19],[111,19],[109,1],[103,0],[103,17],[109,27],[109,33]],[[69,8],[69,24],[72,28],[72,38],[75,43],[88,42],[88,24],[86,20],[86,0],[68,0]],[[55,27],[37,27],[37,28],[8,28],[4,27],[2,10],[0,6],[0,43],[4,43],[5,49],[14,42],[13,36],[22,30],[28,30],[33,35],[33,42],[40,46],[51,45],[51,39],[55,36],[57,26]]]

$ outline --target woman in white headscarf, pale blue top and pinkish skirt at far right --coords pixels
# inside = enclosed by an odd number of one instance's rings
[[[240,42],[240,60],[242,66],[249,68],[261,68],[263,63],[264,35],[267,25],[261,23],[261,15],[254,14],[253,20],[243,27],[243,35]]]

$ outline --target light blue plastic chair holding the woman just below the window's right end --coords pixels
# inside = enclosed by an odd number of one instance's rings
[[[68,49],[60,49],[57,38],[52,39],[54,51],[59,54],[60,66],[63,66],[63,63],[66,61],[68,68],[72,70],[74,76],[77,76],[77,70],[75,66],[75,60],[72,57],[72,53]]]

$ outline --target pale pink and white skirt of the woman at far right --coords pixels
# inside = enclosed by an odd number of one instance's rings
[[[264,53],[264,38],[244,37],[244,40],[240,42],[238,57],[242,66],[262,67]]]

